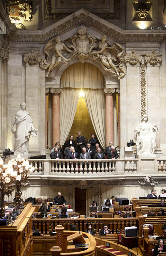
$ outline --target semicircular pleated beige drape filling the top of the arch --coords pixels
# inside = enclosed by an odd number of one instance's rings
[[[61,88],[103,88],[105,84],[102,72],[90,63],[76,63],[62,74]]]

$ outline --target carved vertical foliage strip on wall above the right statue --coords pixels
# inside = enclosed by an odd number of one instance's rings
[[[146,114],[146,68],[144,64],[140,66],[140,93],[141,93],[141,117]]]

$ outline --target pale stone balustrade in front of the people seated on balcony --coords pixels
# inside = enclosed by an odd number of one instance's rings
[[[35,170],[31,175],[115,175],[137,173],[138,159],[29,159]]]

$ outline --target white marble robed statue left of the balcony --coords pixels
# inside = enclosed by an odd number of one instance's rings
[[[25,110],[26,103],[22,102],[20,107],[21,109],[15,114],[11,127],[14,141],[13,148],[15,154],[28,154],[30,135],[36,138],[38,130],[34,128],[30,114]],[[16,131],[13,129],[15,124]]]

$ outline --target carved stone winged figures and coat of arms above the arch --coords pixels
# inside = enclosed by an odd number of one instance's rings
[[[72,59],[79,58],[79,61],[83,63],[87,58],[93,58],[100,62],[103,69],[112,77],[121,79],[126,74],[124,49],[118,43],[110,46],[106,40],[106,35],[98,40],[93,34],[87,33],[85,26],[80,26],[77,33],[67,42],[62,42],[60,37],[56,37],[45,45],[46,59],[42,59],[40,67],[48,70],[46,73],[48,77],[55,67],[59,68],[63,63],[67,67],[68,61]]]

